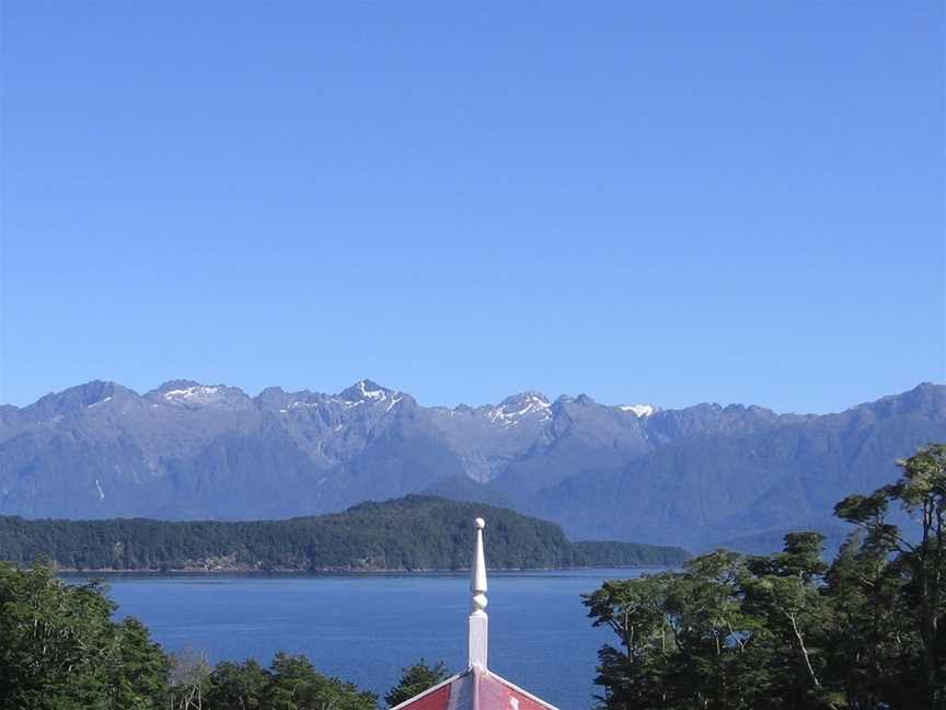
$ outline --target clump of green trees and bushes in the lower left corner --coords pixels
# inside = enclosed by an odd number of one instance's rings
[[[0,563],[0,710],[378,709],[377,696],[303,656],[211,668],[197,653],[166,655],[140,621],[113,621],[114,611],[99,583]]]

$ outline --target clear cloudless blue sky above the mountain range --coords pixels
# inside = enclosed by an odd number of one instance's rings
[[[942,2],[0,4],[2,402],[946,379]]]

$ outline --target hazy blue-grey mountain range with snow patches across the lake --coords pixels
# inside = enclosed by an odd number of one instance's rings
[[[826,415],[607,405],[522,392],[422,406],[361,380],[337,394],[189,380],[92,381],[0,406],[0,515],[266,519],[432,493],[554,520],[573,539],[763,551],[946,440],[946,387]]]

